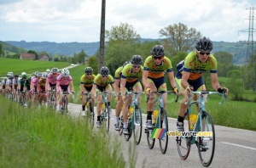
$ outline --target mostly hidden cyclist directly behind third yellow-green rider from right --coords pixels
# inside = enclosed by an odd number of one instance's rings
[[[114,73],[114,85],[115,85],[115,91],[119,92],[120,90],[120,79],[121,79],[121,75],[122,75],[122,70],[125,67],[126,64],[131,64],[130,61],[125,61],[125,63],[120,66],[117,70],[115,70]],[[119,127],[119,119],[120,119],[120,113],[121,113],[121,109],[122,109],[122,105],[123,105],[123,100],[122,98],[119,98],[118,94],[115,94],[115,100],[117,101],[117,104],[115,106],[115,123],[114,123],[114,129],[116,131],[120,130]]]

